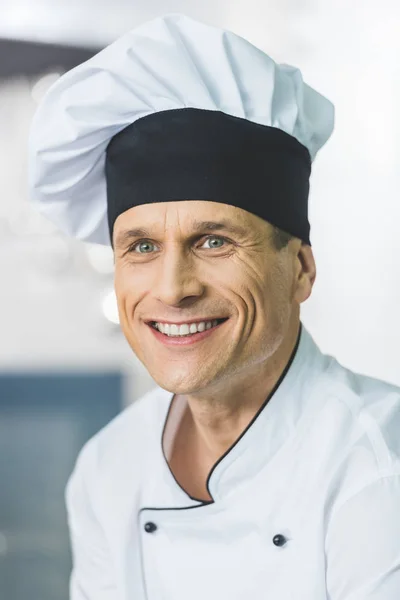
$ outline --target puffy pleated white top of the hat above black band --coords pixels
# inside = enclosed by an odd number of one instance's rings
[[[68,235],[110,245],[110,142],[145,117],[179,109],[278,129],[305,147],[310,161],[334,126],[332,103],[303,82],[299,69],[276,64],[230,31],[169,14],[124,34],[49,88],[29,134],[31,201]],[[268,211],[254,212],[268,218]]]

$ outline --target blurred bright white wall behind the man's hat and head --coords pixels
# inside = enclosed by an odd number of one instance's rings
[[[318,275],[302,319],[320,347],[343,364],[400,385],[398,2],[140,4],[3,0],[0,36],[107,44],[148,18],[185,12],[298,66],[336,105],[335,133],[313,168],[310,220]],[[0,88],[0,369],[121,367],[132,375],[130,402],[153,382],[102,312],[112,272],[98,272],[83,244],[65,239],[28,205],[34,84],[18,79]]]

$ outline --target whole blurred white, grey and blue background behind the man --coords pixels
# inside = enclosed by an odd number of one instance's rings
[[[324,352],[400,385],[397,0],[0,0],[1,600],[67,600],[77,453],[155,385],[118,326],[111,249],[67,239],[29,205],[30,121],[60,75],[167,12],[247,37],[334,102],[302,320]]]

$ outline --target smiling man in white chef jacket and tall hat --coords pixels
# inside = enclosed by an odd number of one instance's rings
[[[69,478],[71,600],[399,600],[400,389],[300,321],[333,122],[298,69],[180,14],[39,105],[31,200],[112,246],[121,328],[156,383]]]

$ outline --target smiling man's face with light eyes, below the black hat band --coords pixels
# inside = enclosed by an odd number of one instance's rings
[[[224,221],[237,231],[198,228],[206,221]],[[148,233],[126,233],[136,228]],[[162,388],[194,394],[232,385],[235,377],[246,381],[279,347],[313,281],[302,276],[305,245],[293,240],[277,251],[271,235],[263,219],[209,201],[140,205],[117,218],[114,283],[121,328]],[[147,324],[203,317],[229,319],[184,346],[163,344]]]

